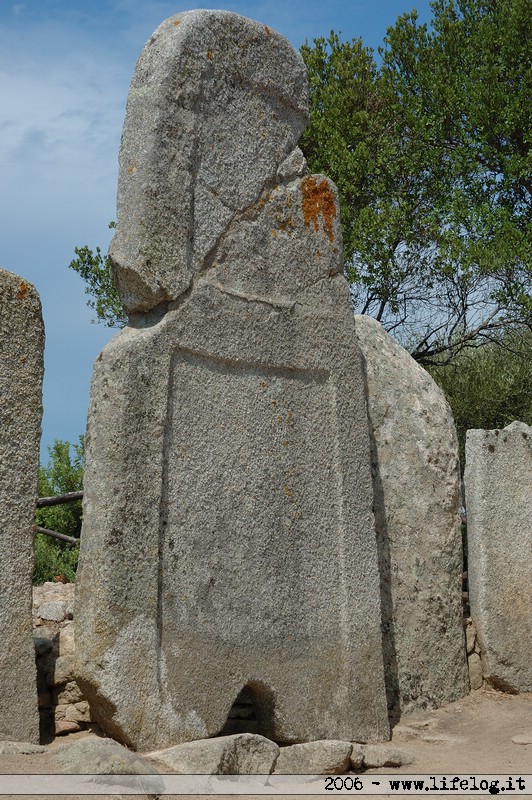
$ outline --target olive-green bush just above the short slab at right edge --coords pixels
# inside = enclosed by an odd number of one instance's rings
[[[500,342],[464,350],[452,364],[429,369],[451,406],[465,463],[471,428],[504,428],[518,419],[532,425],[532,333],[511,331]]]

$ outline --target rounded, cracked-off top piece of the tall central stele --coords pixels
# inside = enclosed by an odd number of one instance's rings
[[[110,255],[128,311],[183,294],[306,120],[305,67],[274,31],[220,11],[159,26],[137,63],[120,151]]]

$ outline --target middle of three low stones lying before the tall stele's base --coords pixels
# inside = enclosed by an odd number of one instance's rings
[[[278,775],[339,775],[350,766],[351,742],[325,740],[281,748]]]

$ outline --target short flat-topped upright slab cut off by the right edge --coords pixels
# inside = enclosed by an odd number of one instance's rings
[[[532,428],[471,430],[465,490],[469,601],[485,680],[532,691]]]

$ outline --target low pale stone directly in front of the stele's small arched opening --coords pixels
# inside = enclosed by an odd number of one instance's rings
[[[148,753],[179,775],[270,775],[279,746],[264,736],[219,736]]]

